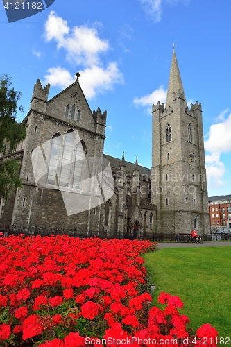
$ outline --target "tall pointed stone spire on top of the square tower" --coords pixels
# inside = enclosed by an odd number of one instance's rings
[[[166,96],[166,106],[165,108],[172,108],[173,106],[173,93],[177,93],[180,90],[180,93],[183,94],[185,99],[185,92],[180,78],[180,70],[178,67],[178,61],[176,59],[175,47],[173,46],[173,58],[171,60],[171,71],[169,76],[169,87]],[[186,99],[185,99],[186,100]],[[186,105],[186,101],[185,101]]]

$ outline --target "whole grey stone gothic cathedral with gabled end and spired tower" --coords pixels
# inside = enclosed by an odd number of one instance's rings
[[[114,237],[189,233],[195,227],[209,233],[202,110],[198,102],[187,107],[175,49],[166,106],[153,105],[151,169],[137,158],[127,162],[124,153],[121,159],[104,155],[107,112],[92,112],[79,77],[52,99],[50,86],[37,80],[24,119],[27,135],[14,153],[21,161],[22,189],[12,191],[6,205],[1,201],[0,223],[107,231]],[[93,179],[99,176],[94,164],[86,177],[91,158],[110,163],[112,180],[106,178],[104,187]],[[36,179],[34,167],[42,178]]]

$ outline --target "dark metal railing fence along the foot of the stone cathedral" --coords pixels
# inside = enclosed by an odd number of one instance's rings
[[[105,230],[77,230],[77,229],[64,229],[64,228],[40,228],[38,226],[1,226],[0,234],[2,236],[24,234],[25,236],[51,236],[51,235],[69,235],[69,237],[80,237],[80,239],[86,239],[88,237],[99,237],[101,239],[135,239],[134,235],[124,235],[123,232],[119,232],[116,235],[108,233]],[[155,242],[179,242],[179,234],[165,234],[155,233],[149,235],[140,235],[138,239],[149,239]],[[209,234],[202,235],[203,241],[231,241],[231,234]],[[185,241],[187,242],[187,241]]]

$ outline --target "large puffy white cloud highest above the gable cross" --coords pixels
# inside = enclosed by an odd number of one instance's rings
[[[85,66],[99,64],[99,53],[109,49],[108,40],[101,40],[96,28],[74,26],[71,29],[67,21],[53,11],[46,21],[44,37],[47,41],[55,40],[58,49],[65,49],[69,61]]]

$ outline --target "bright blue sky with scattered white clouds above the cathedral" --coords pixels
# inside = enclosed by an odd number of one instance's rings
[[[230,194],[230,1],[55,0],[8,23],[0,5],[0,75],[23,93],[40,78],[49,98],[74,81],[108,111],[105,153],[151,167],[151,105],[165,102],[173,42],[187,102],[202,103],[209,196]]]

